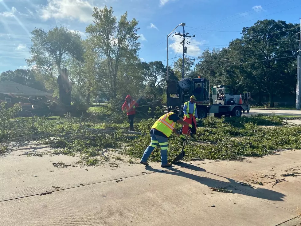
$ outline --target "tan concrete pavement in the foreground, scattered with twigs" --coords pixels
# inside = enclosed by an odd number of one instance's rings
[[[1,225],[278,225],[301,212],[301,177],[268,183],[285,170],[301,172],[301,151],[168,170],[128,164],[116,153],[88,168],[53,166],[73,165],[76,157],[20,153],[0,158]]]

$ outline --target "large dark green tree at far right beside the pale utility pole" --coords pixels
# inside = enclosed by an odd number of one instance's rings
[[[267,19],[257,21],[253,26],[244,27],[242,30],[242,42],[252,54],[249,60],[260,61],[250,66],[256,69],[254,76],[262,84],[261,88],[268,93],[270,106],[274,103],[275,95],[283,92],[283,81],[286,84],[295,83],[295,76],[289,76],[288,67],[291,61],[295,61],[291,56],[298,44],[293,43],[291,38],[297,31],[296,24]]]

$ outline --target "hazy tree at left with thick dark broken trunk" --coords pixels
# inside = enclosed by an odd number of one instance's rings
[[[83,48],[79,32],[72,32],[66,27],[54,27],[48,32],[34,29],[31,32],[32,46],[29,51],[31,58],[27,59],[30,66],[35,65],[35,69],[43,73],[45,83],[52,88],[59,85],[60,100],[70,105],[71,84],[68,75],[63,67],[70,59],[83,60]],[[69,95],[70,98],[68,98]],[[70,100],[69,100],[70,99]]]

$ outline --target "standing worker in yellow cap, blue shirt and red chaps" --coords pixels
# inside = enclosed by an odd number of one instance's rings
[[[184,112],[184,121],[192,124],[193,128],[190,129],[189,135],[193,135],[197,132],[197,105],[195,96],[190,97],[190,101],[184,103],[183,112]],[[188,133],[188,126],[183,125],[182,134]]]

